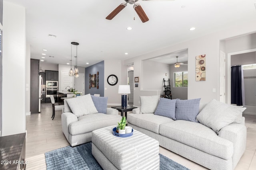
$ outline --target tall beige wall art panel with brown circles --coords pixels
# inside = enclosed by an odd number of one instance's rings
[[[206,55],[196,56],[196,81],[205,81],[206,80]]]

